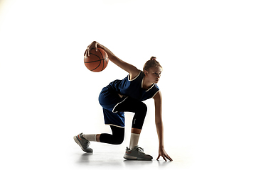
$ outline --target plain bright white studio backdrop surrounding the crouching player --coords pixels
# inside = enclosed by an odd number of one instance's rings
[[[170,156],[172,148],[193,148],[201,166],[247,166],[255,160],[255,7],[246,0],[1,0],[1,166],[43,168],[67,154],[73,135],[108,132],[97,97],[127,73],[111,62],[88,71],[83,53],[93,40],[139,69],[151,56],[161,63]],[[157,154],[154,101],[146,104],[140,143]],[[122,147],[132,113],[126,116]]]

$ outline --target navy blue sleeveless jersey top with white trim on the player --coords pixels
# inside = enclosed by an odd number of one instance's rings
[[[144,76],[144,72],[140,71],[137,77],[132,80],[129,80],[128,75],[122,80],[117,79],[112,81],[107,87],[116,91],[117,94],[136,98],[139,101],[145,101],[146,99],[154,97],[159,91],[159,87],[156,84],[152,84],[149,89],[143,89]]]

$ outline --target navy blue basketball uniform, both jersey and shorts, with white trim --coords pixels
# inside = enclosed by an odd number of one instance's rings
[[[129,75],[122,80],[114,80],[105,86],[100,92],[99,102],[103,108],[106,125],[124,127],[124,112],[114,111],[114,108],[126,98],[134,98],[138,101],[145,101],[153,98],[159,91],[156,84],[145,90],[142,88],[144,72],[140,71],[137,77],[129,80]]]

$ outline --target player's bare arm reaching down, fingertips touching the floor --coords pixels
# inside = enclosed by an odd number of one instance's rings
[[[155,122],[156,122],[156,131],[157,135],[159,137],[159,156],[156,160],[159,159],[159,157],[163,157],[163,159],[166,161],[166,158],[172,161],[171,157],[166,153],[164,150],[164,126],[162,121],[162,115],[161,115],[161,106],[162,106],[162,97],[161,97],[161,91],[159,91],[154,96],[154,103],[155,103]]]

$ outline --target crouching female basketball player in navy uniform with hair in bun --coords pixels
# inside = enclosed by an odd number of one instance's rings
[[[107,52],[109,60],[117,64],[120,68],[129,73],[122,80],[112,81],[100,92],[99,101],[103,108],[105,124],[110,125],[112,135],[102,133],[94,135],[77,135],[74,137],[75,142],[85,152],[92,152],[89,147],[89,141],[105,142],[112,145],[119,145],[124,140],[124,112],[133,112],[132,134],[129,148],[127,147],[124,154],[125,159],[151,160],[149,154],[145,154],[141,147],[138,147],[139,135],[142,131],[144,118],[146,116],[146,105],[142,102],[148,98],[154,98],[155,103],[155,122],[156,130],[159,137],[159,157],[172,161],[171,157],[164,150],[164,129],[161,118],[161,92],[156,85],[161,77],[162,67],[156,61],[156,57],[151,57],[144,64],[143,72],[116,57],[107,47],[100,45],[98,42],[92,42],[85,50],[85,55],[90,57],[90,50],[100,47]]]

